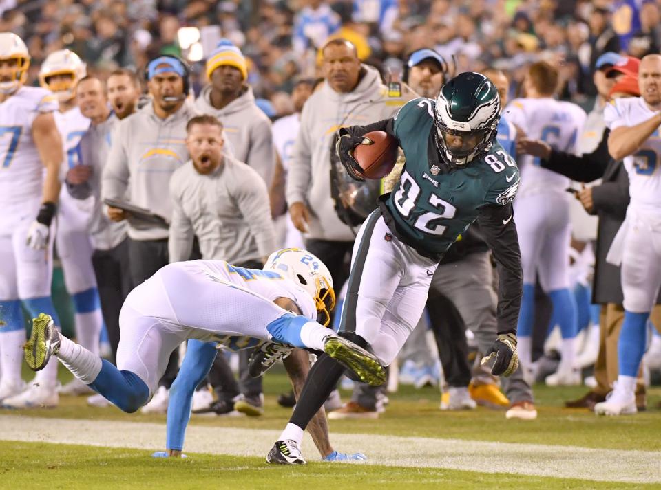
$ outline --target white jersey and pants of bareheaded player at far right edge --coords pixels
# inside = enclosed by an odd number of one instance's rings
[[[641,98],[622,98],[607,105],[604,117],[613,131],[636,126],[655,114]],[[631,202],[607,260],[622,264],[625,309],[651,311],[661,285],[661,131],[656,131],[625,157]]]

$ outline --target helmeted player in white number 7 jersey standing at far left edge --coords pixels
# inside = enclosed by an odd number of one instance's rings
[[[53,405],[57,363],[25,390],[21,346],[30,314],[56,318],[50,298],[54,230],[60,192],[62,140],[57,100],[45,89],[25,87],[30,54],[10,32],[0,33],[0,405],[28,393],[34,405]],[[44,172],[45,167],[45,172]]]

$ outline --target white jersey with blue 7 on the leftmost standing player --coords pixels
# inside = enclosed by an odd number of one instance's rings
[[[57,109],[55,96],[38,87],[21,87],[0,104],[0,203],[41,197],[43,163],[32,123],[37,115]]]

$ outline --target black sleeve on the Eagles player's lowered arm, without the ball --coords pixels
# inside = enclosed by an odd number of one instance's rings
[[[512,204],[484,208],[478,220],[484,241],[498,266],[498,333],[516,334],[523,294],[523,269]]]

